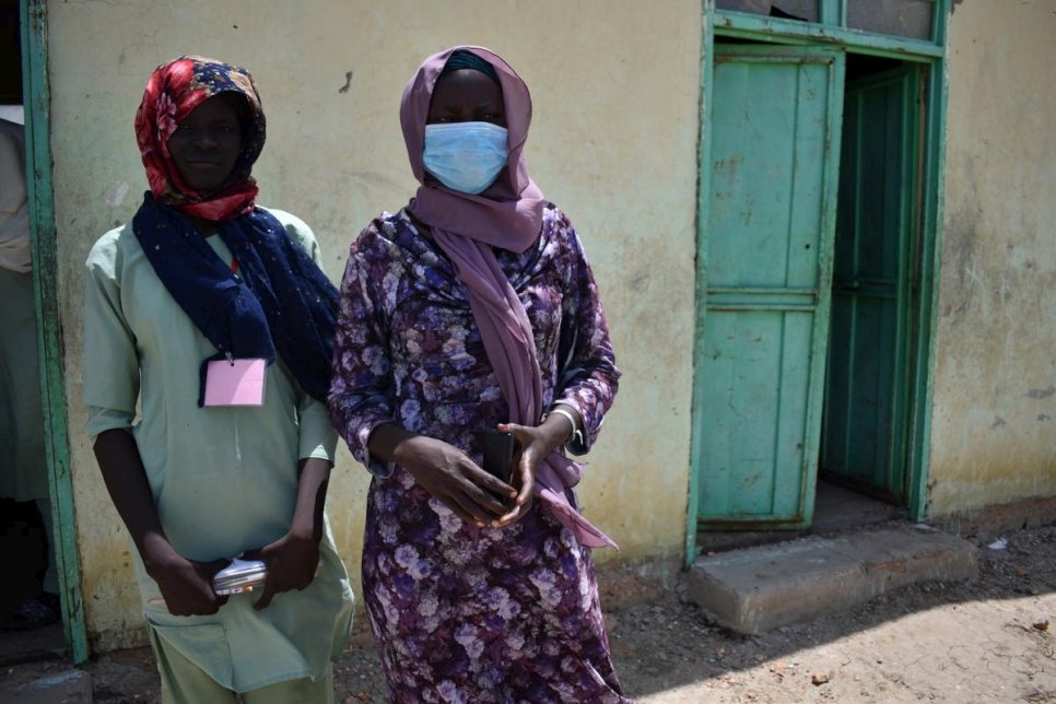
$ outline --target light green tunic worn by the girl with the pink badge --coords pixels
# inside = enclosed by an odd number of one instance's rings
[[[318,262],[307,225],[270,212]],[[208,242],[231,261],[219,236]],[[333,458],[326,406],[277,361],[268,367],[263,406],[199,408],[199,367],[216,350],[159,280],[131,225],[103,235],[86,266],[87,433],[131,429],[162,526],[183,556],[232,558],[281,538],[293,517],[297,460]],[[161,594],[133,550],[152,637],[237,692],[318,678],[340,658],[352,611],[329,524],[320,553],[313,583],[277,595],[262,611],[253,609],[259,594],[248,594],[232,596],[215,615],[174,617],[150,603]]]

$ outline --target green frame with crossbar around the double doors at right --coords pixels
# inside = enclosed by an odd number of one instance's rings
[[[931,42],[896,36],[872,34],[846,28],[847,0],[819,0],[821,23],[782,20],[758,14],[717,10],[715,0],[704,0],[701,40],[701,109],[700,114],[700,165],[711,164],[711,132],[703,115],[712,105],[714,77],[715,37],[750,39],[761,43],[809,44],[836,46],[850,54],[880,56],[901,61],[916,61],[928,66],[927,112],[923,120],[924,164],[920,184],[920,244],[919,244],[919,304],[918,316],[911,335],[916,338],[914,377],[912,384],[918,390],[908,409],[906,443],[907,508],[913,520],[923,520],[926,508],[928,450],[931,432],[932,375],[935,363],[935,330],[938,309],[939,244],[942,223],[942,197],[944,192],[946,114],[948,79],[946,75],[946,39],[951,13],[951,0],[935,0],[931,22]],[[707,297],[707,262],[700,256],[705,242],[705,225],[709,216],[709,169],[699,168],[696,223],[697,272],[695,284],[695,329],[704,329]],[[696,335],[694,369],[702,367],[702,337]],[[693,416],[701,408],[700,379],[693,384]],[[685,564],[696,558],[697,496],[701,472],[701,433],[694,429],[690,443],[689,505],[685,530]]]

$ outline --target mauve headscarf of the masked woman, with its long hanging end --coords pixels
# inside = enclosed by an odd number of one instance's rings
[[[491,63],[498,74],[506,109],[506,167],[484,192],[470,196],[451,190],[429,176],[422,165],[425,122],[433,86],[447,58],[464,49]],[[451,47],[425,59],[403,90],[400,124],[414,177],[421,186],[408,206],[431,226],[436,244],[447,254],[466,285],[473,319],[488,360],[509,406],[509,420],[535,426],[542,414],[542,375],[536,341],[525,306],[503,272],[492,247],[524,251],[539,237],[545,201],[528,176],[524,157],[531,97],[528,86],[497,55],[474,46]],[[536,470],[535,496],[545,504],[585,545],[617,544],[568,504],[565,491],[579,483],[580,467],[554,450]]]

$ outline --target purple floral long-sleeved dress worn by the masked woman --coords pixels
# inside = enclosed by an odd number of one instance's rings
[[[579,239],[548,204],[536,244],[496,257],[531,320],[544,407],[561,400],[583,416],[585,443],[571,448],[582,454],[620,373]],[[480,462],[484,429],[507,420],[465,290],[439,247],[406,212],[383,214],[352,246],[340,305],[330,412],[374,473],[363,589],[392,697],[627,701],[590,551],[540,502],[511,526],[478,528],[401,467],[368,455],[371,431],[395,421]]]

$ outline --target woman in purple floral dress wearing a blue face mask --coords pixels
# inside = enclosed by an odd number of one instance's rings
[[[528,90],[498,56],[425,60],[400,109],[421,187],[352,245],[329,407],[374,474],[363,583],[398,702],[624,702],[579,466],[619,371],[566,215],[528,177]],[[516,441],[509,483],[481,469]]]

